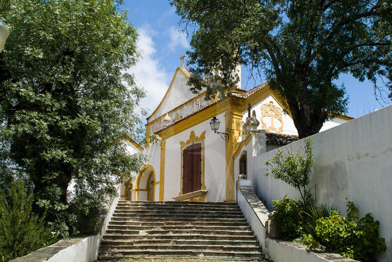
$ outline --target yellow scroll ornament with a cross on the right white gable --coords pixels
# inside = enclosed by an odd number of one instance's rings
[[[267,124],[268,118],[270,118],[270,125]],[[279,127],[274,126],[274,119],[280,122]],[[276,121],[275,121],[276,123]],[[283,133],[283,120],[282,120],[282,110],[276,107],[272,101],[268,104],[261,105],[261,124],[262,128],[266,130],[266,132],[275,132],[276,134]]]

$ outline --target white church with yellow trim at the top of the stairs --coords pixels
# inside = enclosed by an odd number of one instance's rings
[[[147,118],[146,148],[128,143],[131,153],[144,154],[148,161],[132,181],[124,181],[121,199],[235,202],[236,181],[246,174],[246,154],[251,154],[245,150],[248,143],[257,142],[253,148],[266,152],[298,140],[290,112],[283,111],[282,99],[268,83],[205,100],[205,92],[189,90],[190,76],[184,67],[174,72],[165,96]],[[214,117],[220,121],[218,132],[210,125]],[[320,131],[350,119],[336,117]]]

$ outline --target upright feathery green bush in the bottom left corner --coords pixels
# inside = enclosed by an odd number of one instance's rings
[[[0,259],[8,261],[24,256],[58,238],[47,229],[44,216],[31,212],[33,194],[25,192],[23,180],[13,182],[9,199],[0,193]]]

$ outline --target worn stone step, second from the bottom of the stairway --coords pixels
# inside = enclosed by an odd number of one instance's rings
[[[116,252],[118,250],[204,250],[204,251],[241,251],[241,252],[261,252],[259,246],[241,245],[191,245],[191,244],[144,244],[144,245],[106,245],[102,252]]]

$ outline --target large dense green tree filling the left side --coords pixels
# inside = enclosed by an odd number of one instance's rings
[[[0,3],[10,29],[0,53],[1,161],[32,181],[38,207],[65,236],[142,164],[116,142],[137,136],[145,95],[126,73],[138,33],[120,4]]]

